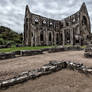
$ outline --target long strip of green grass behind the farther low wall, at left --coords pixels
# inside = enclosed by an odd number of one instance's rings
[[[3,48],[0,49],[0,52],[14,52],[14,51],[19,51],[19,50],[40,50],[44,48],[52,48],[54,46],[37,46],[37,47],[12,47],[12,48]]]

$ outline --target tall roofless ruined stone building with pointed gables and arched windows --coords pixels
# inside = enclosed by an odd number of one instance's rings
[[[33,14],[28,5],[26,6],[24,19],[26,46],[84,45],[90,33],[90,18],[85,3],[78,12],[63,20]]]

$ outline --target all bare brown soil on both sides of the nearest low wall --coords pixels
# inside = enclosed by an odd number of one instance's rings
[[[0,60],[0,80],[39,68],[50,60],[71,60],[89,67],[92,66],[92,59],[85,58],[84,51],[44,53],[36,56]],[[7,90],[0,90],[0,92],[92,92],[92,76],[65,69],[51,75],[42,76],[36,80],[15,85]]]

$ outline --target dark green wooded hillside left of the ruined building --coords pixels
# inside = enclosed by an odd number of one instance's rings
[[[16,33],[8,27],[0,26],[0,45],[21,44],[22,39],[22,34]]]

